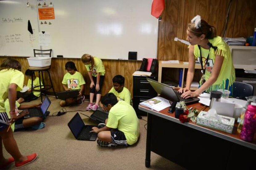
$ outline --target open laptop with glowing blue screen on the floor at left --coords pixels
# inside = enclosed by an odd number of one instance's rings
[[[42,117],[44,114],[46,114],[47,109],[51,105],[50,99],[46,96],[43,100],[42,105],[40,108],[30,108],[27,109],[29,114],[25,115],[24,118],[29,118],[29,117]]]

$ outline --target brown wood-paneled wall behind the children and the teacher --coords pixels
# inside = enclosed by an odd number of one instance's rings
[[[187,25],[195,15],[201,15],[209,24],[217,28],[217,35],[222,36],[226,13],[230,0],[165,0],[166,7],[159,22],[158,60],[188,61],[187,45],[175,42],[174,37],[186,39]],[[256,1],[232,0],[226,37],[252,36],[256,27]],[[147,48],[147,47],[145,47]],[[5,57],[0,57],[0,62]],[[28,68],[25,57],[13,57],[22,64],[23,73]],[[52,58],[51,76],[57,92],[63,91],[62,78],[66,73],[65,63],[73,61],[86,81],[85,94],[89,94],[90,80],[85,66],[78,58]],[[141,61],[102,60],[106,75],[102,94],[112,87],[112,78],[120,74],[125,77],[125,86],[133,92],[132,73],[140,68]],[[166,73],[170,75],[170,73]],[[25,84],[27,77],[25,77]],[[49,82],[47,82],[49,83]],[[132,94],[133,95],[133,94]]]

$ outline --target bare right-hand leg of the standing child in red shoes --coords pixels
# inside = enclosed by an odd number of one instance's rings
[[[19,148],[18,148],[18,145],[13,137],[12,130],[9,130],[7,132],[7,129],[8,129],[8,126],[4,130],[0,131],[0,136],[2,137],[2,141],[5,146],[6,151],[8,153],[10,153],[11,156],[13,156],[13,158],[16,162],[22,162],[22,161],[27,160],[27,156],[23,156],[19,152]]]

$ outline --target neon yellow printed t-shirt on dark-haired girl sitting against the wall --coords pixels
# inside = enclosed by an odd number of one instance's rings
[[[67,85],[69,89],[81,89],[81,85],[85,84],[85,79],[81,73],[76,71],[73,75],[66,73],[63,77],[62,84]]]

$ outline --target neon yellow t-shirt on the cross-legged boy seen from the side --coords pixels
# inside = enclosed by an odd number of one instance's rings
[[[106,126],[122,131],[129,145],[136,143],[138,140],[139,121],[135,110],[126,101],[118,101],[118,103],[109,110]]]

